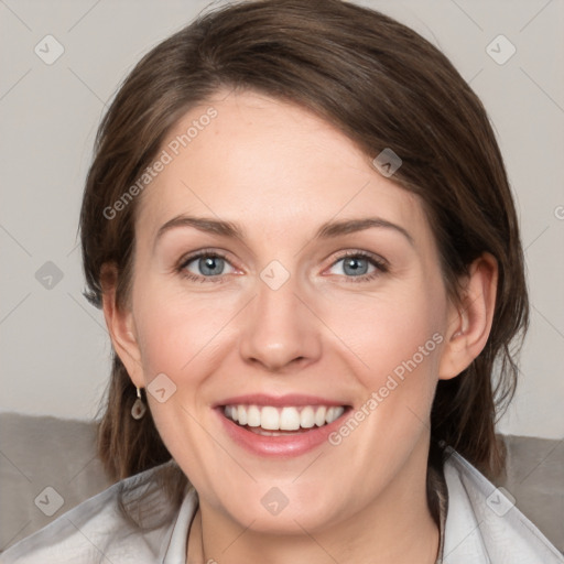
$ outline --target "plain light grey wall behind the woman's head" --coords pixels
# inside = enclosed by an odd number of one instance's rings
[[[132,65],[208,3],[0,0],[0,411],[95,414],[110,345],[101,313],[80,294],[76,238],[94,135]],[[359,3],[437,45],[489,111],[532,301],[521,381],[499,429],[562,440],[564,0]],[[57,43],[64,53],[46,64]]]

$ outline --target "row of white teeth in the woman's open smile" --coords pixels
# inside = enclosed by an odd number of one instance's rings
[[[333,423],[345,412],[343,405],[326,408],[325,405],[304,405],[275,408],[273,405],[226,405],[226,417],[250,427],[267,431],[297,431],[323,426]]]

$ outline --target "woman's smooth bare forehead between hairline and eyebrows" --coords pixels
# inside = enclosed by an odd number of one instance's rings
[[[344,133],[259,94],[218,93],[192,108],[160,154],[167,163],[142,193],[138,236],[154,238],[178,214],[234,220],[258,235],[268,228],[272,236],[377,215],[410,226],[415,238],[429,235],[419,198],[383,177]]]

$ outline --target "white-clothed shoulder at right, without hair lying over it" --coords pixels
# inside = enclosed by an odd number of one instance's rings
[[[564,556],[510,495],[456,452],[447,456],[444,564],[564,564]]]

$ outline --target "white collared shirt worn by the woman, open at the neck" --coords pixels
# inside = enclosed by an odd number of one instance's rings
[[[0,563],[185,564],[198,497],[187,488],[180,510],[172,511],[171,501],[150,479],[162,466],[87,499],[8,549]],[[442,531],[443,564],[564,564],[564,556],[512,501],[454,451],[445,460],[444,477],[448,510]],[[147,488],[137,514],[162,518],[149,531],[126,519],[118,507],[120,491],[135,484]]]

